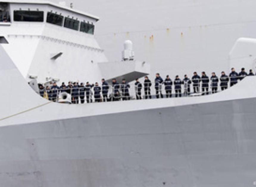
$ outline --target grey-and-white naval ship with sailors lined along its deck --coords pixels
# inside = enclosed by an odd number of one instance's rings
[[[94,15],[41,1],[0,7],[1,186],[256,185],[255,76],[205,96],[51,102],[35,80],[132,82],[156,69],[130,42],[123,60],[108,61]],[[224,66],[253,69],[256,39],[239,37]]]

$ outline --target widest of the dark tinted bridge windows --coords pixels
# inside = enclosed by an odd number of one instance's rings
[[[43,22],[43,11],[14,10],[14,21]]]

